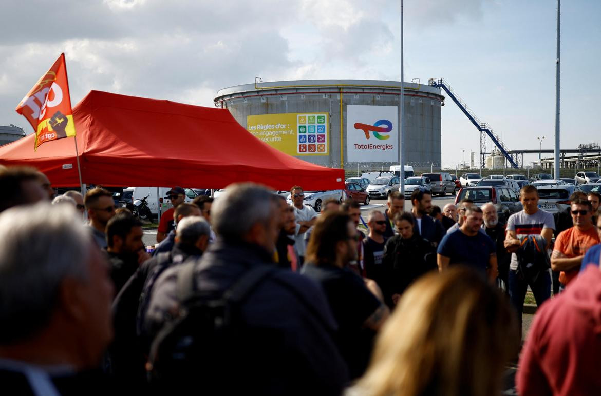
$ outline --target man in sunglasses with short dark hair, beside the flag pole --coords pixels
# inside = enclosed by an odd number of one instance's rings
[[[100,248],[106,248],[106,224],[115,215],[115,201],[111,191],[93,188],[85,194],[84,205],[88,211],[88,229]]]

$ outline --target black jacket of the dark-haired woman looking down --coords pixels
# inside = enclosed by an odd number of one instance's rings
[[[409,239],[403,239],[400,235],[388,239],[382,264],[389,273],[389,281],[385,286],[389,303],[393,294],[402,294],[421,275],[438,268],[436,249],[416,230]]]

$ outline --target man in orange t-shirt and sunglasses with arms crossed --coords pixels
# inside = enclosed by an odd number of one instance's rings
[[[588,248],[601,242],[592,219],[593,208],[590,201],[572,201],[574,226],[557,236],[551,256],[551,268],[553,271],[561,271],[560,282],[563,287],[578,275],[582,257]]]

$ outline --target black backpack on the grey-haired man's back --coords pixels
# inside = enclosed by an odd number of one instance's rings
[[[223,295],[215,296],[196,290],[194,269],[194,262],[180,268],[177,314],[163,326],[150,347],[148,380],[157,394],[199,392],[200,384],[203,391],[219,391],[222,379],[233,378],[227,368],[232,356],[244,348],[240,343],[247,331],[241,317],[242,303],[255,286],[277,271],[276,266],[256,266]]]

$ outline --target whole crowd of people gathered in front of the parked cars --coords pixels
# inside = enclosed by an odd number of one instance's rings
[[[290,203],[252,183],[187,203],[176,186],[150,253],[101,187],[55,197],[8,167],[0,189],[13,394],[493,395],[518,355],[520,394],[601,389],[596,193],[554,216],[526,186],[502,223],[493,203],[441,209],[417,188],[364,233],[358,203],[317,214],[299,185]],[[540,309],[520,351],[528,287]]]

